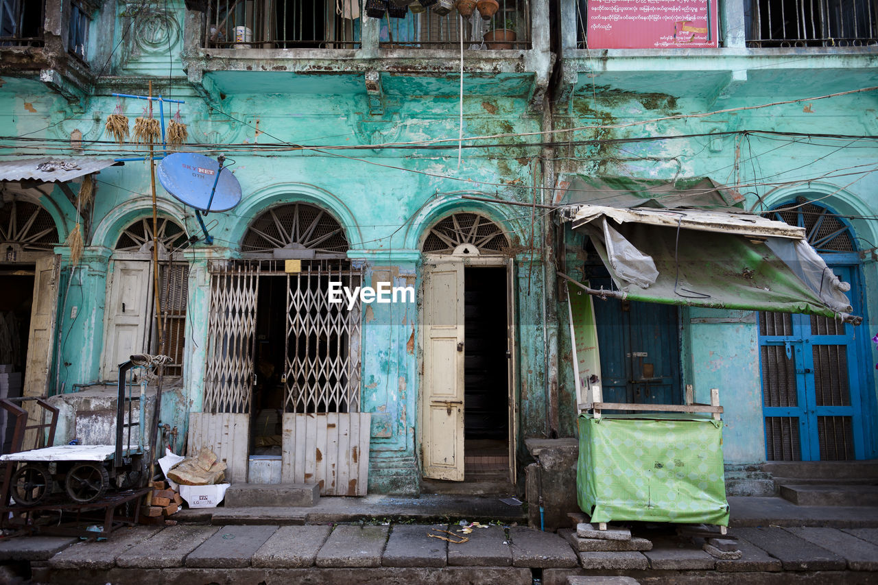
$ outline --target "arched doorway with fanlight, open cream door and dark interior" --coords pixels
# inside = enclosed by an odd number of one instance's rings
[[[423,267],[423,475],[515,483],[515,266],[479,213],[427,230]]]

